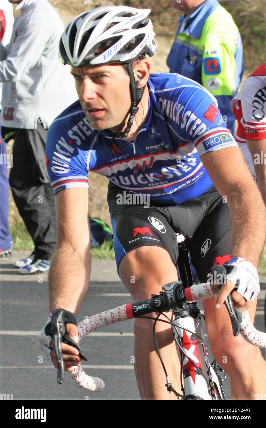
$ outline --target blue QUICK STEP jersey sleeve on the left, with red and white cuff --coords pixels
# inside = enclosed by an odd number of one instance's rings
[[[61,129],[64,125],[61,124]],[[88,149],[77,144],[70,131],[60,131],[54,122],[47,133],[46,163],[54,190],[84,187],[89,188],[87,170]]]

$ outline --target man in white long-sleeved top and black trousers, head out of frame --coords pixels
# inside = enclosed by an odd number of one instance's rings
[[[14,138],[9,184],[15,204],[34,242],[34,253],[15,263],[22,274],[46,272],[56,245],[56,211],[47,174],[47,129],[77,99],[70,69],[58,59],[64,24],[47,0],[16,3],[11,41],[0,43],[3,82],[2,136]]]

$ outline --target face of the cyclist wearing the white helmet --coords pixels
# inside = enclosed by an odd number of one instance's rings
[[[131,105],[129,75],[123,66],[72,67],[71,74],[92,128],[120,131]]]

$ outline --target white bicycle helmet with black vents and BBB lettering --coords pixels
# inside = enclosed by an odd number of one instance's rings
[[[61,36],[61,62],[83,67],[128,63],[141,54],[154,55],[157,45],[149,13],[150,9],[127,6],[100,6],[83,12],[67,24]]]

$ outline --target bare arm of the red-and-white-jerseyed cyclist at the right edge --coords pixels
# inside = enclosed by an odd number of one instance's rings
[[[248,150],[254,163],[257,184],[261,196],[266,205],[266,139],[264,140],[247,140]],[[265,154],[265,163],[264,163]]]

